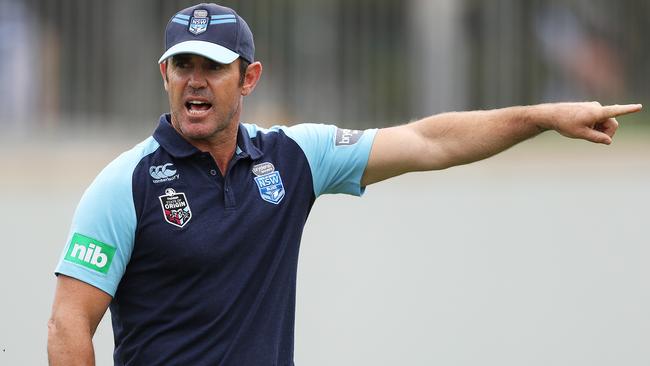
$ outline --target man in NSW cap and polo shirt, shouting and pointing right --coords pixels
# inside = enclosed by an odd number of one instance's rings
[[[302,229],[324,193],[487,158],[553,129],[609,144],[640,105],[446,113],[350,131],[240,123],[262,74],[234,11],[174,15],[159,60],[170,114],[79,203],[56,269],[51,365],[94,363],[110,306],[116,365],[292,365]]]

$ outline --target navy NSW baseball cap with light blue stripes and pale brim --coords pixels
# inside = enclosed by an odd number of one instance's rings
[[[234,10],[217,4],[198,4],[176,13],[165,28],[165,53],[158,63],[191,53],[229,64],[238,57],[252,63],[253,33]]]

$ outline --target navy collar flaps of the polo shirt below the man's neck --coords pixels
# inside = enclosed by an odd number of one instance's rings
[[[200,154],[201,151],[199,149],[185,140],[178,131],[172,127],[170,120],[171,117],[168,113],[160,116],[158,127],[153,133],[153,137],[158,141],[160,146],[176,158],[187,158],[194,154]],[[246,127],[241,123],[239,124],[239,130],[237,131],[236,154],[250,156],[253,160],[259,159],[263,155],[262,152],[253,145],[248,136]]]

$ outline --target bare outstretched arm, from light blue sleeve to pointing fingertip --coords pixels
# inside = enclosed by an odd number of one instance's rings
[[[546,130],[610,144],[615,117],[641,105],[555,103],[489,111],[451,112],[377,132],[361,184],[412,171],[445,169],[495,155]]]

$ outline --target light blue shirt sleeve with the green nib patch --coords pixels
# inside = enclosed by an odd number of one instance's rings
[[[113,160],[86,189],[72,219],[57,275],[74,277],[115,296],[131,258],[137,225],[133,171],[158,146],[153,137],[146,139]]]

